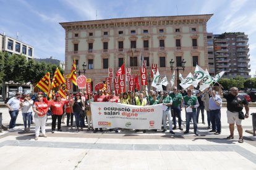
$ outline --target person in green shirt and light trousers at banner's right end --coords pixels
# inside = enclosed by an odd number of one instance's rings
[[[167,116],[169,121],[169,132],[171,134],[175,134],[173,132],[173,121],[171,119],[171,105],[173,105],[173,99],[171,99],[167,91],[164,91],[164,92],[161,91],[161,99],[159,103],[163,103],[163,105],[167,107],[165,111],[163,110],[163,126],[164,126],[163,132],[166,132],[166,129],[167,129],[166,127],[166,116]]]

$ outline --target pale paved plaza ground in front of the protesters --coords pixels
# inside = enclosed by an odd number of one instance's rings
[[[10,116],[0,108],[4,125]],[[250,113],[256,108],[250,108]],[[49,117],[50,118],[50,117]],[[205,119],[207,118],[205,113]],[[182,111],[182,127],[185,114]],[[175,135],[153,131],[135,133],[115,132],[74,133],[62,124],[63,132],[51,134],[51,119],[46,126],[48,137],[35,138],[34,124],[30,133],[23,133],[22,114],[15,132],[0,133],[0,169],[256,169],[256,137],[245,132],[252,130],[252,116],[242,121],[244,143],[239,144],[235,129],[233,140],[227,140],[229,126],[226,108],[221,109],[220,135],[208,132],[207,124],[199,117],[198,133],[174,130]]]

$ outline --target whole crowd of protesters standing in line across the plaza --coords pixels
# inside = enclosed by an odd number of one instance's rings
[[[218,92],[216,90],[218,89]],[[247,100],[241,95],[237,95],[237,88],[231,88],[231,93],[224,94],[227,97],[228,102],[228,123],[231,135],[228,139],[234,139],[234,123],[236,122],[237,129],[239,131],[239,142],[243,142],[242,139],[242,126],[241,119],[238,118],[238,112],[242,111],[242,106],[245,106],[246,114],[245,118],[248,118],[249,107]],[[150,90],[149,94],[146,91],[140,92],[124,92],[121,94],[116,94],[115,91],[111,91],[109,94],[106,90],[99,90],[93,94],[87,94],[87,92],[78,92],[73,95],[67,91],[66,99],[62,98],[60,94],[56,94],[54,100],[48,100],[43,94],[43,92],[38,92],[36,99],[32,100],[30,94],[19,94],[17,93],[12,97],[7,103],[9,108],[9,113],[11,116],[11,121],[9,124],[9,131],[15,131],[15,121],[22,110],[24,130],[23,132],[30,131],[31,119],[33,118],[32,109],[35,113],[35,140],[38,140],[40,129],[43,137],[46,136],[45,127],[47,117],[51,115],[51,132],[62,131],[61,123],[65,123],[68,128],[73,129],[75,127],[75,132],[83,131],[85,126],[85,121],[87,122],[87,131],[93,131],[94,133],[103,129],[98,128],[93,129],[92,124],[92,111],[90,109],[90,104],[92,102],[116,102],[123,103],[126,105],[165,105],[165,110],[163,110],[163,131],[167,131],[167,120],[169,123],[169,133],[175,134],[174,130],[179,129],[183,131],[182,128],[182,118],[181,111],[184,108],[186,113],[186,131],[184,134],[189,133],[190,121],[193,121],[194,134],[198,136],[197,124],[200,112],[202,114],[202,123],[205,124],[204,110],[207,111],[207,128],[211,129],[209,132],[214,132],[216,135],[221,134],[221,106],[223,93],[221,91],[221,85],[216,88],[208,88],[204,91],[200,91],[198,94],[193,95],[192,89],[186,89],[182,91],[177,91],[177,87],[173,87],[172,92],[161,91],[155,92]],[[238,101],[238,102],[237,102]],[[73,126],[73,121],[75,117],[75,126]],[[177,128],[177,120],[178,126]],[[119,129],[108,129],[108,131],[119,132]],[[153,129],[157,131],[157,129]],[[139,132],[139,129],[135,129],[135,132]],[[146,130],[142,130],[143,133]]]

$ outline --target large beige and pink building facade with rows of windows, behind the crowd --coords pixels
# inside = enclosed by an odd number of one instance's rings
[[[171,78],[174,70],[186,60],[184,77],[194,73],[195,66],[208,68],[207,22],[212,14],[168,17],[116,18],[60,23],[66,31],[65,74],[70,74],[72,61],[77,69],[87,64],[85,75],[93,84],[105,81],[108,68],[117,71],[125,62],[132,74],[140,74],[142,56],[157,64],[160,75]],[[177,73],[176,73],[177,79]],[[175,81],[177,82],[177,81]]]

